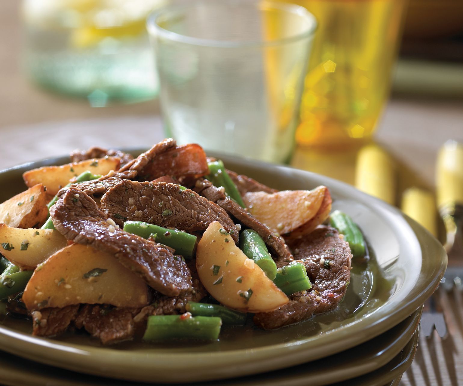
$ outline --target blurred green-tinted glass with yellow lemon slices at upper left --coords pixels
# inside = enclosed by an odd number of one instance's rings
[[[158,80],[145,20],[165,1],[25,0],[26,74],[93,106],[154,98]]]

